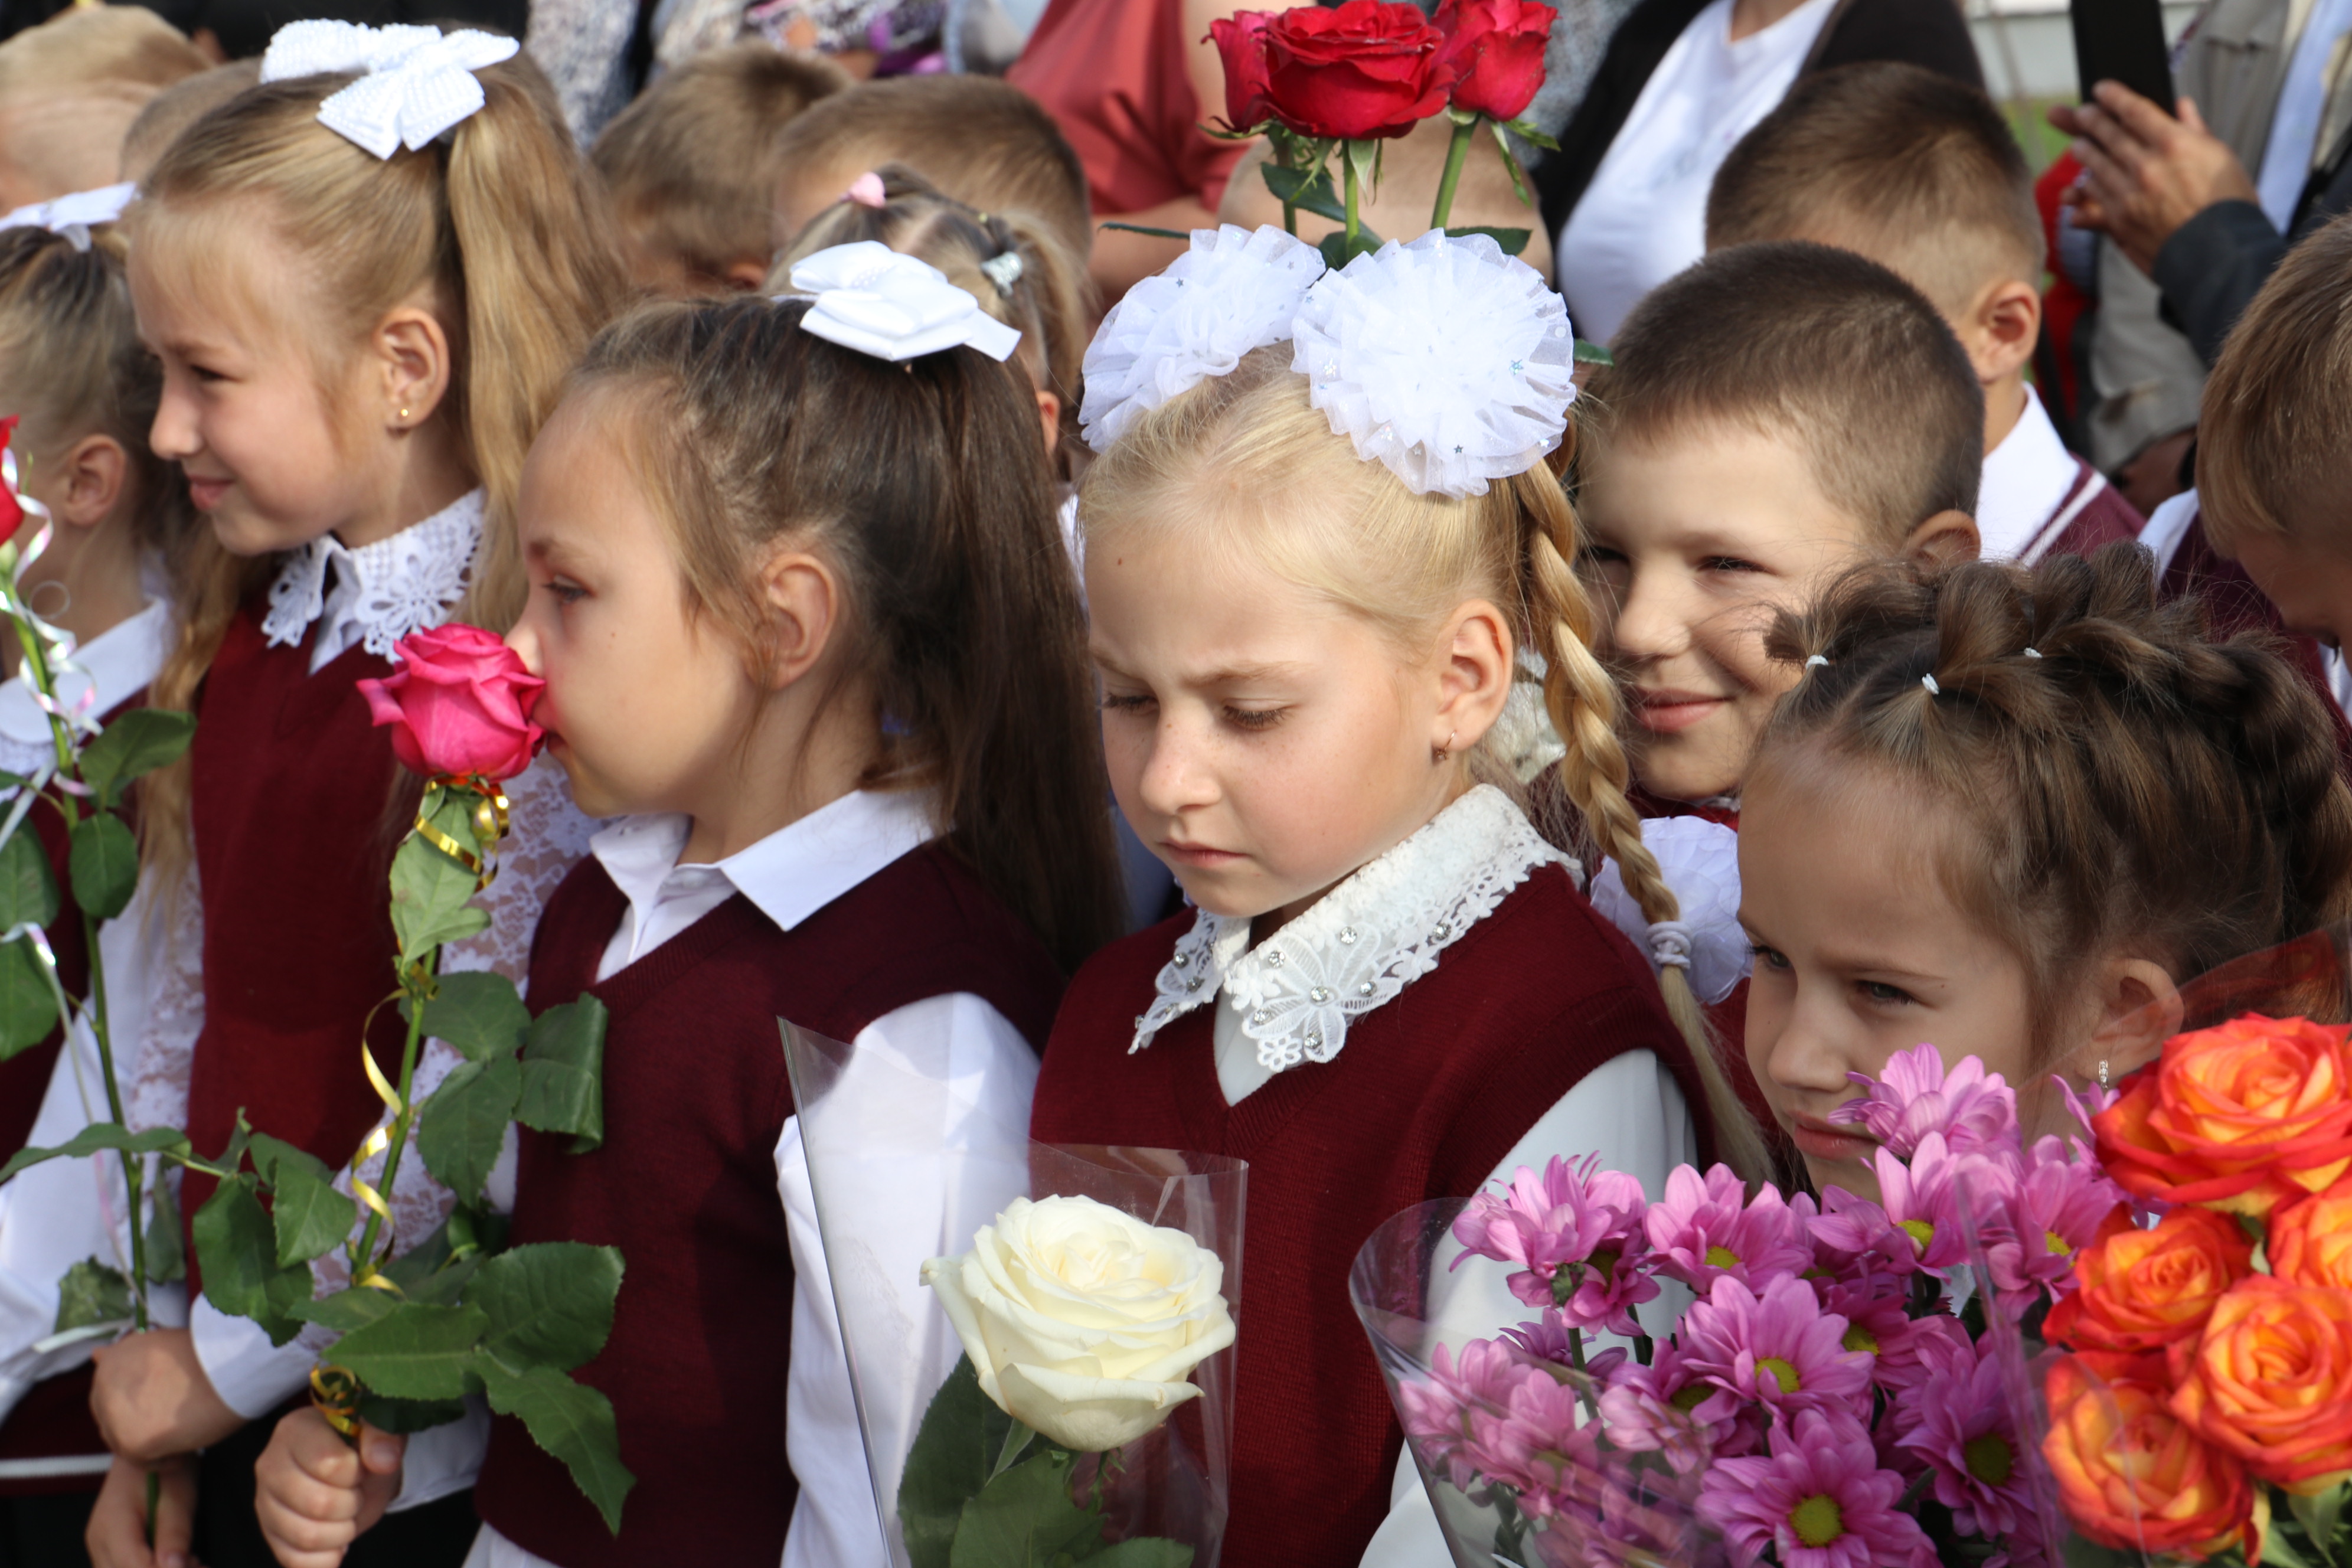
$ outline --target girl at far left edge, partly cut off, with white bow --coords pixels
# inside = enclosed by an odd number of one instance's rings
[[[122,242],[113,216],[127,190],[64,197],[35,221],[0,226],[0,414],[16,414],[16,482],[47,508],[49,543],[19,585],[49,625],[73,639],[59,696],[111,722],[146,693],[172,646],[172,564],[188,536],[179,475],[146,442],[162,376],[139,346]],[[42,522],[26,522],[28,548]],[[14,637],[7,663],[16,663]],[[24,679],[0,684],[0,769],[35,776],[56,762],[49,717]],[[49,929],[59,976],[87,990],[89,959],[66,875],[66,825],[45,804],[19,832],[49,851],[64,910]],[[115,1039],[141,1032],[143,910],[103,926]],[[92,1119],[82,1086],[96,1081],[87,1037],[71,1053],[59,1030],[0,1063],[0,1157],[28,1140],[56,1145]],[[78,1060],[80,1058],[80,1060]],[[143,1107],[141,1107],[143,1110]],[[99,1112],[103,1114],[103,1110]],[[115,1258],[106,1199],[120,1208],[120,1168],[56,1161],[0,1187],[0,1552],[47,1556],[78,1540],[106,1443],[89,1420],[89,1345],[38,1352],[56,1328],[59,1279],[92,1255]],[[179,1286],[153,1309],[183,1319]]]

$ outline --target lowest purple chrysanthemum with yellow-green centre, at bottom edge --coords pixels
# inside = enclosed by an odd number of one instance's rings
[[[1849,1415],[1799,1410],[1771,1429],[1771,1453],[1719,1460],[1698,1512],[1743,1563],[1771,1549],[1780,1568],[1933,1568],[1919,1521],[1900,1509],[1903,1476],[1879,1469]]]

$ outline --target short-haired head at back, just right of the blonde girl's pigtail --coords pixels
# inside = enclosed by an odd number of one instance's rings
[[[790,167],[779,139],[847,87],[833,61],[755,40],[696,54],[614,115],[588,158],[612,188],[637,287],[670,299],[757,289]]]

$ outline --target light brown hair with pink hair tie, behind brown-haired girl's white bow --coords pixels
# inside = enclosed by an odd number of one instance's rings
[[[882,165],[882,207],[826,207],[769,270],[769,292],[790,287],[793,263],[833,244],[880,240],[894,252],[929,261],[948,282],[981,301],[981,310],[1021,334],[1016,350],[1037,390],[1061,397],[1063,456],[1077,442],[1080,371],[1087,357],[1087,263],[1051,228],[1025,212],[974,212],[906,165]],[[1016,259],[1011,282],[983,268]],[[1002,266],[1000,266],[1002,270]]]

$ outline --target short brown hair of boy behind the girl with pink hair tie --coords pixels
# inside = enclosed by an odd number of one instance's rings
[[[858,82],[783,127],[783,179],[901,162],[976,212],[1025,212],[1075,256],[1094,249],[1087,169],[1037,99],[985,75]],[[835,195],[828,190],[826,195]],[[793,235],[776,235],[779,249]]]

